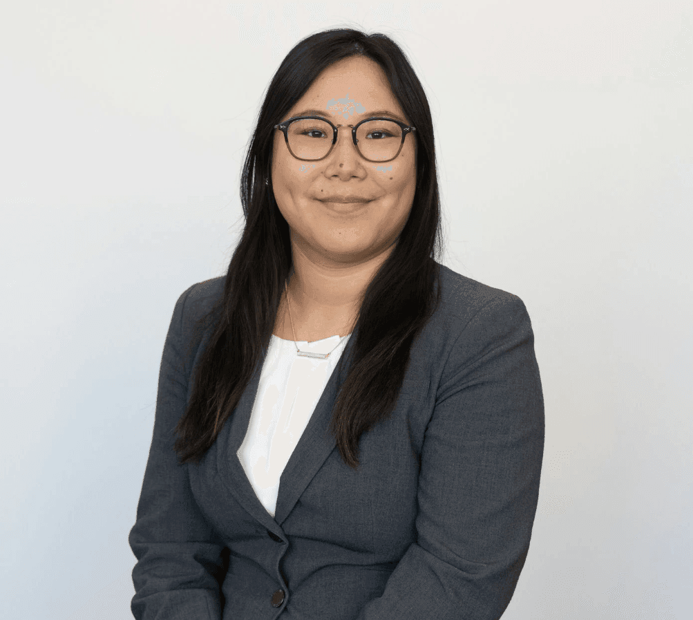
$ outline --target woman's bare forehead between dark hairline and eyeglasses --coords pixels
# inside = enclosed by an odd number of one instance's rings
[[[331,64],[292,106],[290,115],[304,110],[321,110],[326,117],[366,117],[376,110],[389,110],[406,121],[380,65],[363,56],[352,56]]]

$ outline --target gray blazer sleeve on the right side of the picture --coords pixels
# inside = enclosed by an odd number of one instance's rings
[[[450,351],[421,449],[416,542],[357,620],[496,620],[536,513],[544,402],[525,304],[484,304]]]

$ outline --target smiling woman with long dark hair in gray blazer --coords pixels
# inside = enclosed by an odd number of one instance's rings
[[[384,35],[283,60],[226,277],[178,299],[137,619],[500,618],[544,441],[525,304],[441,266],[432,121]]]

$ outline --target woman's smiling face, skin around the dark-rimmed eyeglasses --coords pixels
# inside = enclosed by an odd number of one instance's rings
[[[291,231],[292,251],[310,261],[339,267],[360,264],[388,250],[407,223],[416,188],[416,141],[407,135],[399,155],[378,164],[365,160],[351,128],[378,116],[409,119],[397,103],[380,66],[353,56],[332,64],[310,85],[283,120],[315,116],[316,110],[339,128],[337,142],[323,160],[305,162],[289,152],[284,135],[274,132],[272,190]],[[367,203],[331,203],[358,196]]]

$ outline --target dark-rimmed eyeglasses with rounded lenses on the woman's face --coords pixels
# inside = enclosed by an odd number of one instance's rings
[[[351,127],[353,146],[369,162],[394,160],[404,146],[407,133],[416,131],[414,127],[386,117],[364,119],[356,126],[335,126],[322,117],[293,117],[275,125],[274,129],[283,132],[289,153],[297,160],[317,162],[331,153],[337,143],[339,127]]]

